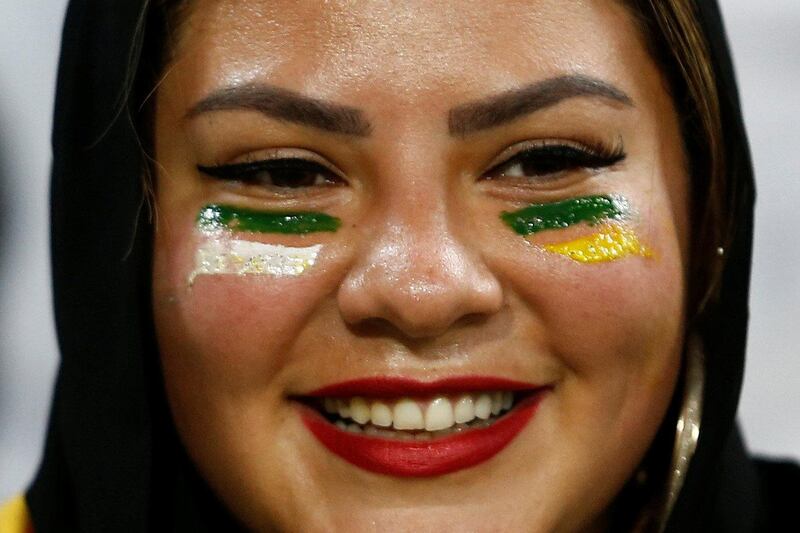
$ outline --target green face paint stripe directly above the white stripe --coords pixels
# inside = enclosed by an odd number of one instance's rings
[[[230,205],[209,204],[197,215],[202,231],[229,229],[250,233],[305,234],[339,229],[341,220],[324,213],[276,213]]]

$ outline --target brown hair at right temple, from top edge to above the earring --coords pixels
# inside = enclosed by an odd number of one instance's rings
[[[691,180],[688,316],[700,319],[719,294],[734,232],[735,190],[725,165],[720,93],[694,0],[625,0],[667,79],[681,119]],[[722,253],[720,253],[720,251]]]

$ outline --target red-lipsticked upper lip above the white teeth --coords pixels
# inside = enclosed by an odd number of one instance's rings
[[[453,376],[433,381],[396,376],[374,376],[331,383],[303,396],[429,396],[474,391],[530,391],[542,385],[496,376]]]

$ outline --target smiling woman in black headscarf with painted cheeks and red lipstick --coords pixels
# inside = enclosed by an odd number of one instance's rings
[[[54,142],[36,531],[797,499],[734,425],[753,186],[709,3],[74,2]]]

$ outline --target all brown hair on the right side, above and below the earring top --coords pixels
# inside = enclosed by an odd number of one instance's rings
[[[701,323],[718,300],[725,250],[735,231],[738,174],[728,173],[720,89],[695,0],[624,0],[638,22],[650,55],[659,65],[680,119],[691,190],[688,331]],[[720,253],[722,251],[722,253]],[[676,388],[640,469],[618,496],[615,527],[659,531],[674,502],[668,484],[683,380]],[[672,426],[670,426],[673,424]],[[637,480],[645,473],[645,481]]]

